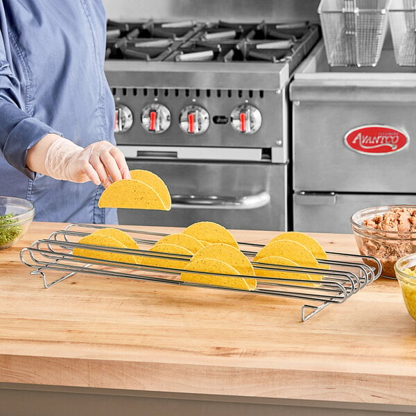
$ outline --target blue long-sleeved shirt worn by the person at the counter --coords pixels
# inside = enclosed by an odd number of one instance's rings
[[[26,168],[49,132],[115,143],[104,57],[101,0],[0,0],[0,195],[31,200],[35,220],[116,223],[114,209],[98,208],[102,186]]]

